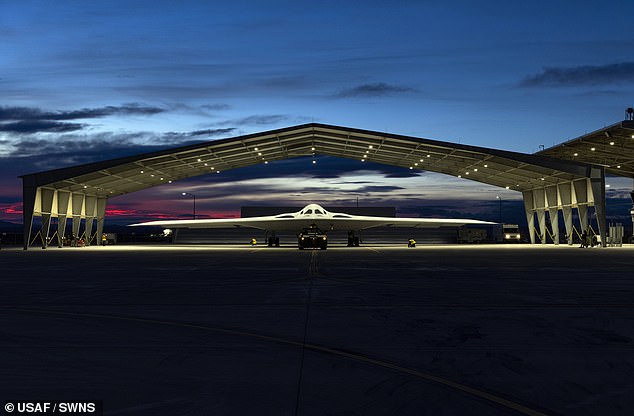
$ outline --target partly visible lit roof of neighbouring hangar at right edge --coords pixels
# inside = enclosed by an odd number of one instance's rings
[[[606,173],[634,178],[634,121],[612,124],[536,154],[601,165]]]

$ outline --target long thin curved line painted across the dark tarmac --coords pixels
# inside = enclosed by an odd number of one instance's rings
[[[314,253],[314,252],[313,252]],[[316,258],[316,255],[311,256],[312,259]],[[439,377],[433,374],[424,373],[422,371],[414,370],[407,367],[402,367],[397,364],[390,363],[388,361],[381,361],[375,358],[371,358],[362,354],[355,354],[349,351],[342,351],[336,348],[330,348],[317,344],[306,344],[305,342],[292,341],[289,339],[278,338],[270,335],[263,335],[253,332],[239,331],[234,329],[226,329],[226,328],[217,328],[210,327],[198,324],[190,324],[186,322],[177,322],[177,321],[162,321],[158,319],[149,319],[149,318],[138,318],[134,316],[117,316],[117,315],[106,315],[106,314],[98,314],[98,313],[83,313],[83,312],[68,312],[68,311],[51,311],[51,310],[42,310],[42,309],[26,309],[26,308],[7,308],[0,307],[0,310],[4,311],[12,311],[12,312],[26,312],[26,313],[39,313],[39,314],[50,314],[50,315],[61,315],[61,316],[75,316],[75,317],[83,317],[83,318],[98,318],[98,319],[112,319],[119,321],[128,321],[128,322],[140,322],[146,324],[154,324],[154,325],[166,325],[173,327],[181,327],[181,328],[191,328],[198,329],[202,331],[216,332],[221,334],[235,335],[235,336],[244,336],[250,337],[254,339],[259,339],[262,341],[270,341],[278,344],[284,345],[292,345],[295,347],[300,347],[303,349],[310,349],[313,351],[318,351],[330,355],[335,355],[339,357],[348,358],[354,361],[364,362],[367,364],[372,364],[378,367],[387,368],[390,370],[398,371],[404,374],[409,374],[414,377],[421,378],[423,380],[431,381],[436,384],[441,384],[443,386],[452,388],[454,390],[461,391],[463,393],[467,393],[471,396],[479,397],[481,399],[488,400],[490,402],[496,403],[500,406],[515,410],[519,413],[529,416],[547,416],[545,413],[542,413],[538,410],[531,409],[527,406],[524,406],[520,403],[516,403],[514,401],[505,399],[500,396],[496,396],[495,394],[486,392],[484,390],[477,389],[475,387],[468,386],[466,384],[458,383],[456,381],[450,380],[445,377]],[[305,335],[305,334],[304,334]]]

